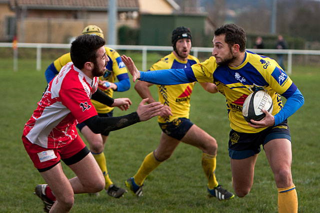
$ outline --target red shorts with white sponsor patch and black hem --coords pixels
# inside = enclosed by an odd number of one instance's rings
[[[70,162],[67,164],[64,161],[67,165],[76,163],[83,159],[89,152],[79,135],[77,135],[75,139],[66,146],[56,149],[43,148],[36,144],[32,144],[24,135],[22,135],[22,142],[26,152],[33,162],[34,167],[40,172],[42,169],[44,169],[42,171],[45,171],[45,168],[53,167],[59,163],[60,159],[62,161],[66,159],[67,162]],[[80,153],[80,156],[77,155],[78,153]],[[72,157],[76,155],[76,159],[72,159]]]

